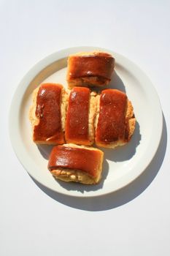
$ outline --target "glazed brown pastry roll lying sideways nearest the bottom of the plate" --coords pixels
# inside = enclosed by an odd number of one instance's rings
[[[82,184],[97,184],[101,180],[104,153],[92,147],[64,144],[54,146],[48,169],[55,178]]]

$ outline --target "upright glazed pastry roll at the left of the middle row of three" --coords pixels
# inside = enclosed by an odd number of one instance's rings
[[[29,118],[38,144],[63,144],[66,92],[61,84],[44,83],[33,92]]]

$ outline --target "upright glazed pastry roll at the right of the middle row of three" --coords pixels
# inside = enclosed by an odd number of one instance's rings
[[[96,145],[104,148],[122,146],[131,140],[136,118],[125,93],[106,89],[98,96]]]

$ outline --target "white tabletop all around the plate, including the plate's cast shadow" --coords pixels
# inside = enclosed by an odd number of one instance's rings
[[[169,10],[165,0],[0,1],[0,255],[170,254]],[[146,172],[121,192],[87,200],[39,189],[15,157],[7,127],[12,96],[28,69],[77,45],[108,48],[139,65],[166,119]]]

